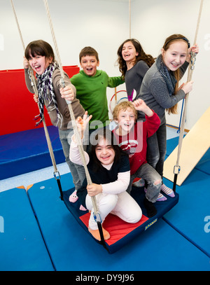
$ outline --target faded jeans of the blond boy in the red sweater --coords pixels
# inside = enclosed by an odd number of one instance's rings
[[[148,163],[144,163],[141,165],[136,173],[130,176],[130,185],[127,188],[127,192],[130,193],[132,190],[132,183],[135,178],[141,177],[145,179],[148,186],[146,190],[146,197],[150,202],[156,202],[158,195],[160,193],[160,187],[162,184],[162,179],[160,174],[156,172],[156,170],[151,167]]]

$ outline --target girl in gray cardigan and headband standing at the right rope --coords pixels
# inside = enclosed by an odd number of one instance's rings
[[[169,36],[162,53],[152,67],[146,72],[137,99],[141,98],[155,113],[158,113],[161,123],[158,131],[148,138],[147,161],[162,176],[166,154],[166,119],[168,113],[177,113],[177,103],[186,97],[193,88],[193,81],[184,83],[179,88],[182,78],[190,62],[190,52],[198,53],[197,46],[190,48],[185,36],[173,34]],[[144,113],[139,112],[138,120],[145,120]],[[162,184],[161,190],[174,197],[172,189]]]

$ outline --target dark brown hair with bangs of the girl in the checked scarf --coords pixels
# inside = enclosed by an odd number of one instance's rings
[[[52,46],[43,40],[31,41],[25,49],[25,57],[29,60],[30,56],[35,57],[36,55],[45,56],[47,58],[52,57],[52,62],[55,62],[55,55],[52,50]]]

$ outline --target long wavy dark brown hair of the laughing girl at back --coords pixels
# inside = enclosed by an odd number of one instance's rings
[[[155,62],[155,59],[152,57],[152,55],[146,55],[146,53],[144,53],[144,50],[141,44],[139,43],[139,41],[137,41],[137,39],[127,39],[123,41],[123,43],[118,48],[118,64],[119,64],[119,69],[120,69],[120,72],[122,73],[123,78],[125,78],[125,73],[127,71],[127,64],[125,60],[123,60],[122,50],[123,50],[124,44],[127,43],[128,41],[132,42],[137,53],[139,53],[139,55],[137,55],[136,57],[136,60],[134,60],[134,65],[137,64],[139,60],[144,60],[144,62],[148,64],[148,67],[151,67],[153,63]]]

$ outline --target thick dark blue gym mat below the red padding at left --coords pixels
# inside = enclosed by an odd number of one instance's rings
[[[57,127],[48,126],[56,163],[65,161]],[[52,165],[43,127],[0,136],[0,180]]]

